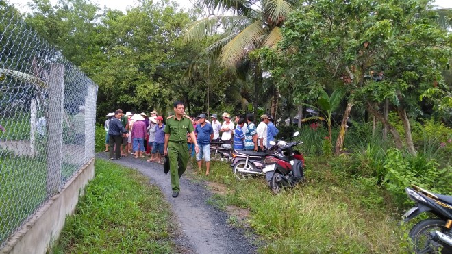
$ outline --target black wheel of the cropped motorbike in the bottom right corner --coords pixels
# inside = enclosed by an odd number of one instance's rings
[[[448,234],[450,230],[444,227],[445,224],[444,220],[427,219],[414,225],[409,233],[414,244],[414,253],[438,253],[442,243],[438,242],[435,231]],[[448,248],[448,246],[444,246],[444,248]]]

